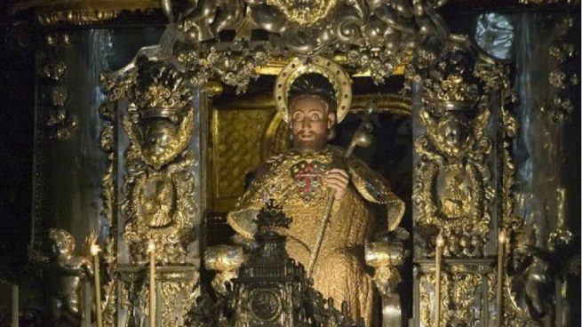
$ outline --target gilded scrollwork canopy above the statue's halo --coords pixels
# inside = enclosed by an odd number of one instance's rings
[[[171,1],[163,3],[163,12],[175,23],[168,43],[177,45],[167,48],[173,49],[191,82],[203,85],[216,79],[239,92],[267,67],[269,59],[320,53],[339,53],[347,66],[381,83],[427,37],[442,37],[445,30],[435,9],[446,2],[427,0],[414,4],[204,0],[180,10],[172,8]],[[266,33],[268,41],[255,41],[256,30]],[[220,42],[223,31],[235,32],[232,43]]]

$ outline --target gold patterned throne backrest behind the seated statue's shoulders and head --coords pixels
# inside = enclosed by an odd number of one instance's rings
[[[232,209],[249,172],[291,145],[271,92],[230,99],[211,105],[209,208],[216,213]],[[362,113],[371,100],[379,104],[379,113],[411,115],[410,97],[396,94],[355,96],[350,114]]]

